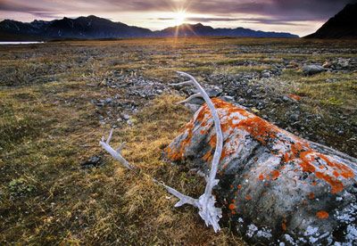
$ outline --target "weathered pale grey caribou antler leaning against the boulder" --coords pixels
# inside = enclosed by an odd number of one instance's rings
[[[219,180],[216,179],[216,174],[217,174],[217,169],[218,169],[218,164],[220,161],[220,155],[222,152],[223,148],[223,135],[222,131],[220,128],[220,118],[218,116],[218,113],[216,109],[214,108],[214,104],[211,101],[210,97],[206,92],[204,91],[203,87],[195,80],[194,77],[191,75],[185,73],[185,72],[179,72],[179,75],[184,76],[186,78],[189,78],[188,81],[181,82],[178,84],[170,84],[170,86],[187,86],[187,85],[193,85],[198,89],[198,94],[194,94],[187,98],[187,100],[184,100],[179,103],[187,102],[188,100],[201,96],[203,97],[204,101],[207,103],[210,111],[212,112],[212,118],[214,120],[214,127],[216,130],[216,135],[217,135],[217,142],[216,142],[216,149],[214,151],[213,159],[212,159],[212,166],[211,166],[211,171],[210,175],[205,177],[205,180],[207,182],[204,193],[198,198],[192,198],[190,196],[187,196],[183,193],[179,193],[177,190],[171,188],[170,186],[163,184],[161,182],[158,182],[156,179],[153,178],[154,182],[157,184],[162,185],[169,193],[172,195],[176,196],[179,198],[179,201],[175,204],[175,207],[180,207],[184,204],[190,204],[194,206],[195,208],[199,209],[198,214],[203,218],[205,224],[207,226],[212,225],[214,232],[220,231],[220,217],[222,215],[222,211],[220,208],[216,208],[214,206],[214,203],[216,202],[215,197],[212,194],[213,187],[219,183]],[[125,160],[121,154],[121,148],[118,149],[118,151],[115,151],[112,146],[109,144],[112,139],[112,130],[111,133],[108,136],[108,139],[104,141],[104,137],[102,138],[102,141],[99,143],[102,145],[105,151],[109,152],[112,157],[115,160],[119,160],[120,163],[125,166],[126,168],[129,168],[130,170],[135,169],[134,166],[130,165],[128,160]]]

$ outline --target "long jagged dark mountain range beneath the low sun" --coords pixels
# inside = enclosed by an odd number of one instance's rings
[[[225,36],[225,37],[298,37],[290,33],[263,32],[252,29],[213,29],[210,26],[183,24],[179,27],[152,31],[131,27],[121,22],[113,22],[94,15],[77,19],[63,18],[54,21],[21,21],[4,20],[0,22],[0,40],[48,40],[48,39],[96,39],[120,37],[192,37],[192,36]]]

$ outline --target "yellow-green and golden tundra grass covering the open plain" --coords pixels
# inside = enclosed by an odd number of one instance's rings
[[[244,244],[227,224],[220,234],[213,234],[194,208],[173,208],[176,200],[151,180],[154,176],[195,197],[203,192],[202,178],[184,165],[162,160],[163,147],[191,117],[175,104],[181,96],[163,94],[149,101],[129,98],[125,87],[97,85],[105,79],[120,80],[114,72],[163,83],[175,80],[176,70],[201,80],[259,73],[283,60],[352,57],[336,50],[353,45],[300,39],[158,38],[1,46],[0,244]],[[310,52],[326,46],[330,53]],[[307,78],[299,70],[283,70],[281,77],[260,83],[282,95],[301,95],[302,111],[322,115],[330,126],[353,126],[356,77],[355,72],[338,72]],[[138,105],[139,113],[130,116],[132,127],[116,121],[126,112],[120,106],[95,106],[95,100],[115,96]],[[286,111],[284,105],[279,107],[281,119]],[[350,117],[340,119],[341,111]],[[99,122],[100,116],[108,119],[106,124]],[[122,154],[141,169],[139,175],[121,168],[98,146],[114,123],[118,128],[112,144],[127,142]],[[345,141],[353,136],[351,131],[338,136],[317,129],[316,134],[351,154],[353,146]],[[102,165],[81,168],[80,163],[93,155],[103,157]]]

